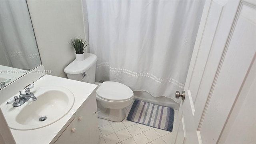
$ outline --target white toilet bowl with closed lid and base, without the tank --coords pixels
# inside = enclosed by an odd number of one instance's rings
[[[96,90],[98,117],[121,122],[126,113],[124,108],[133,101],[132,90],[119,82],[103,82]]]

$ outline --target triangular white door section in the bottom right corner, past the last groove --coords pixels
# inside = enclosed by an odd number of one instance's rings
[[[220,144],[256,144],[256,61],[226,120]],[[244,132],[246,130],[246,132]]]

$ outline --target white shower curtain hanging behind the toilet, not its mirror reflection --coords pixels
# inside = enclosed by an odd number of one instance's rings
[[[110,80],[176,102],[204,1],[86,1],[96,81]]]

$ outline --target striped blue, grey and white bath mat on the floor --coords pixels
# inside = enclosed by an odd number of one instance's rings
[[[172,108],[140,100],[134,101],[127,117],[129,121],[170,132],[172,132],[173,119],[174,110]]]

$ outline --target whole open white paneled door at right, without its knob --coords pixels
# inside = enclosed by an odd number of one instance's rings
[[[256,1],[206,1],[173,143],[256,143]]]

